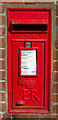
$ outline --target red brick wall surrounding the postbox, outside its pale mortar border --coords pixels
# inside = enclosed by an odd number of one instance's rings
[[[40,0],[16,0],[16,2],[40,2]],[[54,44],[54,82],[53,82],[53,98],[52,98],[52,112],[50,114],[38,114],[38,115],[21,115],[21,114],[9,114],[6,112],[6,80],[5,80],[5,53],[6,53],[6,32],[5,32],[5,2],[15,2],[15,0],[0,0],[0,120],[4,118],[56,118],[58,120],[58,3],[56,0],[43,0],[44,2],[53,2],[56,4],[56,39]],[[41,0],[42,2],[42,0]]]

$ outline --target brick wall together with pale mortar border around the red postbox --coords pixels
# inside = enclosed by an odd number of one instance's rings
[[[9,113],[8,112],[8,71],[7,71],[7,8],[51,8],[51,90],[50,113]],[[37,97],[37,96],[35,96]],[[2,119],[51,119],[58,120],[58,2],[55,0],[0,0],[0,120]]]

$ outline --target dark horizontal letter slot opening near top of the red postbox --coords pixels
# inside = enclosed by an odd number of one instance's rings
[[[46,24],[19,24],[19,25],[13,24],[11,31],[47,31],[47,25]]]

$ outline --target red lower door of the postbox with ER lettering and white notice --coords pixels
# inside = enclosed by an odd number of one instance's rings
[[[15,94],[13,99],[14,108],[22,107],[22,106],[16,106],[17,101],[18,102],[24,101],[23,106],[28,108],[30,106],[32,106],[33,108],[43,107],[44,106],[44,98],[43,98],[44,97],[44,43],[34,42],[33,47],[28,49],[27,48],[23,49],[20,46],[21,46],[21,42],[13,42],[13,70],[14,70],[13,91]],[[22,46],[24,46],[24,42],[22,43]],[[18,54],[18,50],[19,50],[19,54]],[[24,53],[21,53],[22,50],[24,50]],[[23,59],[23,61],[20,59]],[[20,64],[21,61],[23,62],[22,64]],[[19,66],[19,71],[18,71],[18,66]]]

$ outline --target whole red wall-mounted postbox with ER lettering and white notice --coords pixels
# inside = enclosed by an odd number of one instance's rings
[[[7,9],[9,112],[50,112],[51,20],[51,9]]]

